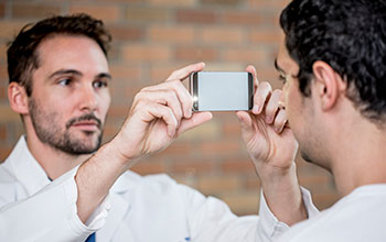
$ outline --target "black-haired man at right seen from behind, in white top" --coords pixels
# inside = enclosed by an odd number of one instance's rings
[[[342,196],[281,241],[386,241],[386,1],[293,0],[280,23],[291,130]]]

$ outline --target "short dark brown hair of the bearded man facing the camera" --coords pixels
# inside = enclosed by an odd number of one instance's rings
[[[32,94],[32,73],[40,66],[36,48],[44,38],[54,34],[87,36],[98,43],[106,57],[111,42],[104,23],[84,13],[57,15],[26,24],[9,43],[7,56],[9,81],[24,86],[28,96]]]

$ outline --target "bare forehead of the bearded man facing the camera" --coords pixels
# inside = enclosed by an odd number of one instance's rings
[[[52,35],[42,41],[36,53],[40,67],[108,70],[100,46],[87,36]]]

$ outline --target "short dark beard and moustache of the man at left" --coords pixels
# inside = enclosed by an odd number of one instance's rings
[[[60,113],[56,111],[45,111],[31,98],[29,110],[32,125],[37,139],[50,146],[71,155],[90,154],[99,148],[101,143],[101,121],[94,113],[73,118],[66,122],[65,129],[60,127]],[[85,138],[78,138],[71,133],[69,128],[83,120],[94,120],[97,122],[98,132],[83,131]]]

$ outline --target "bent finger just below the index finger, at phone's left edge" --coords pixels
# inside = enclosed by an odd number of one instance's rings
[[[174,91],[179,99],[183,116],[187,119],[192,117],[193,98],[180,80],[162,82],[147,88],[147,90],[153,91],[161,89]]]

